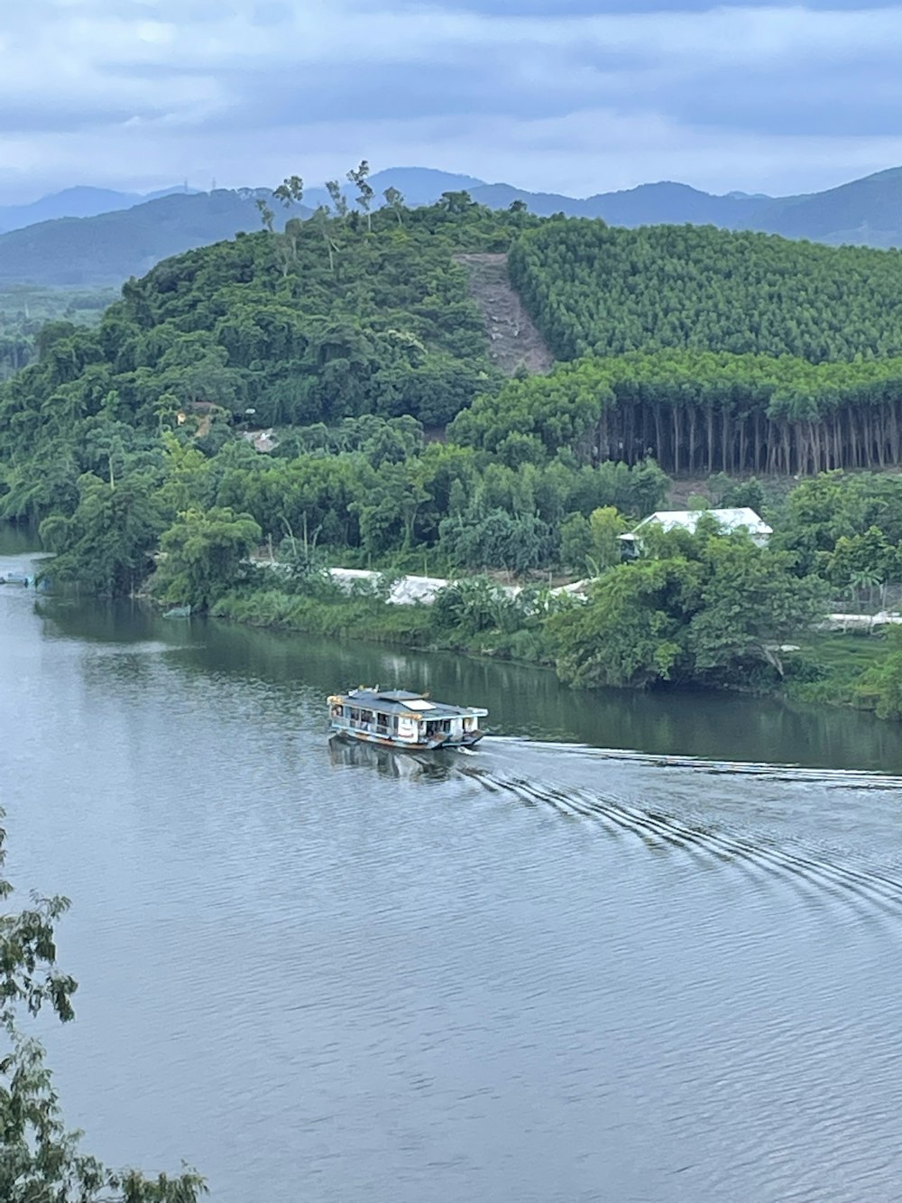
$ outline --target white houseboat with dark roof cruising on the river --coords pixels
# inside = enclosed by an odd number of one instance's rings
[[[485,735],[479,706],[450,706],[428,694],[360,686],[328,699],[330,727],[338,735],[382,747],[429,752],[469,748]]]

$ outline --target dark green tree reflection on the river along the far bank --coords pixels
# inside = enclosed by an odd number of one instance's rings
[[[714,760],[815,764],[902,771],[895,724],[824,706],[705,691],[572,691],[553,671],[447,652],[411,652],[366,641],[321,639],[192,617],[166,621],[152,606],[48,598],[37,604],[49,638],[95,644],[152,640],[178,648],[173,671],[212,676],[278,695],[299,734],[315,727],[326,698],[357,685],[422,689],[443,701],[486,706],[489,733],[593,747]]]

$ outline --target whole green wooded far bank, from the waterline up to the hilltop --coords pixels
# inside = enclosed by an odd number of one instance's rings
[[[257,233],[10,342],[0,520],[37,526],[54,588],[505,656],[575,687],[902,717],[898,629],[819,627],[902,598],[897,251],[465,192],[376,207],[367,165],[351,174],[356,208],[336,185],[279,229],[291,177]],[[648,515],[708,505],[752,506],[770,541],[652,523],[623,559]],[[349,593],[337,564],[382,585]],[[403,573],[450,583],[387,604]]]

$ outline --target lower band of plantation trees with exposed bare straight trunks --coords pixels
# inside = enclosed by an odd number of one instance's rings
[[[808,363],[725,351],[563,363],[476,398],[455,439],[503,462],[654,456],[667,472],[805,474],[902,461],[902,358]]]

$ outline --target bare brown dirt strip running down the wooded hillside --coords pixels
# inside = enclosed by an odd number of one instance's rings
[[[502,372],[514,375],[521,366],[532,374],[548,372],[553,356],[511,288],[508,256],[455,255],[455,259],[470,273],[470,292],[486,321],[489,355]]]

